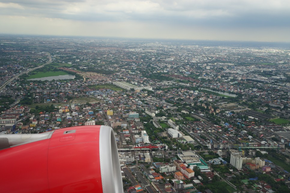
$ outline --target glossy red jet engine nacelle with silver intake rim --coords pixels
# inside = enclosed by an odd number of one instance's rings
[[[123,192],[111,127],[0,135],[0,146],[1,192]]]

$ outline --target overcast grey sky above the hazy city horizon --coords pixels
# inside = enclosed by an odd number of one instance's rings
[[[289,0],[0,0],[0,33],[290,41]]]

